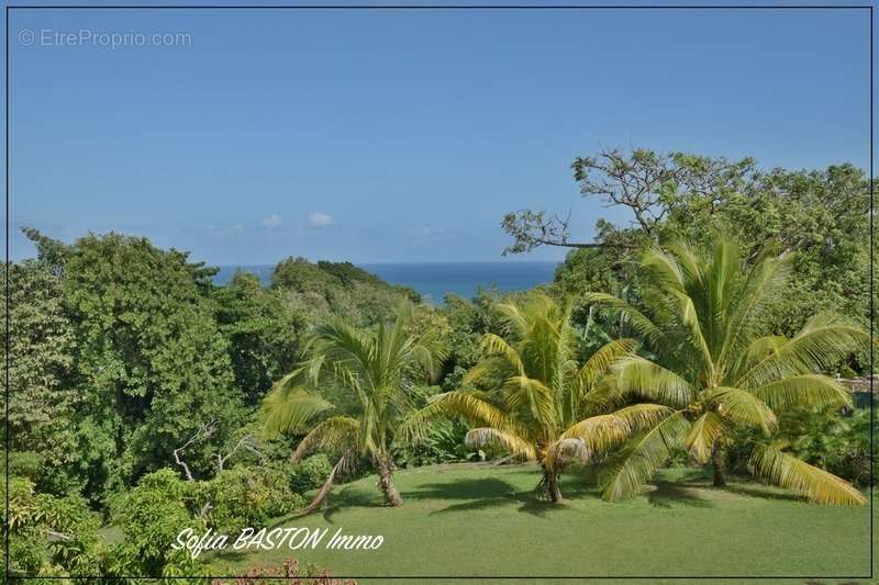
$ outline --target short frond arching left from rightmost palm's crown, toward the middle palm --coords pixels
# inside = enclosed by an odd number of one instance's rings
[[[696,396],[687,380],[661,365],[637,356],[621,358],[614,364],[616,384],[630,392],[669,405],[686,405]]]

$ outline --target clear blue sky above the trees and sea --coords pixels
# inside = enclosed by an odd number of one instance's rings
[[[190,42],[54,36],[84,30]],[[24,225],[219,265],[492,260],[510,211],[627,221],[571,178],[600,148],[868,165],[864,11],[43,10],[10,41],[13,259]]]

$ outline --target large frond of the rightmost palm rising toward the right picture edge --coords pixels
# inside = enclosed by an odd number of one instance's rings
[[[738,385],[759,386],[790,375],[827,370],[868,347],[869,334],[835,315],[816,315],[787,344],[754,364]]]

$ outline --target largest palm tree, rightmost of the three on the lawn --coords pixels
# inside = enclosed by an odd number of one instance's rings
[[[613,458],[604,497],[636,493],[675,448],[698,463],[711,460],[714,485],[723,486],[725,449],[735,431],[750,428],[763,437],[746,448],[757,479],[816,503],[863,504],[852,485],[785,452],[771,434],[777,413],[849,405],[850,394],[820,372],[869,344],[869,336],[833,315],[813,317],[792,338],[772,335],[766,317],[789,275],[783,255],[766,251],[748,268],[737,246],[719,237],[709,249],[652,249],[641,266],[643,312],[607,294],[587,295],[622,313],[645,342],[642,356],[612,367],[616,391],[661,408]]]

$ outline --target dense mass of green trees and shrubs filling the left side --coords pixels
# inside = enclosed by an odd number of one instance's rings
[[[234,529],[301,507],[329,471],[252,432],[255,406],[316,319],[372,322],[413,296],[349,263],[285,261],[270,288],[245,273],[216,286],[213,269],[144,238],[25,232],[38,258],[9,265],[5,293],[11,553],[29,573],[192,574],[168,552],[187,522]],[[333,303],[312,303],[318,289]],[[98,545],[101,517],[122,543]]]

